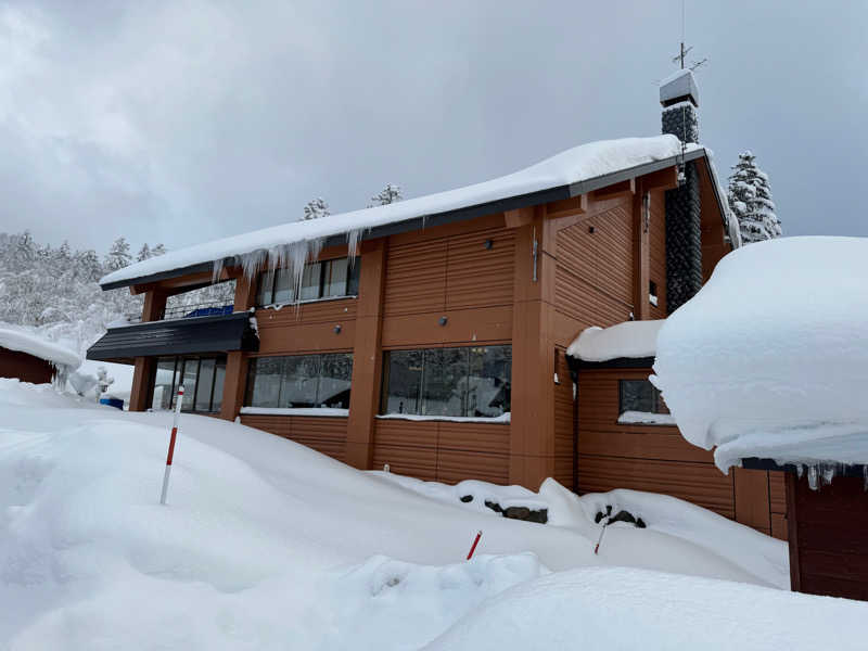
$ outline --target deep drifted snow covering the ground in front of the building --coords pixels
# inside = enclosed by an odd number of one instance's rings
[[[520,522],[184,414],[162,507],[169,423],[0,380],[0,649],[418,649],[444,634],[435,648],[480,649],[509,648],[510,630],[524,649],[612,649],[628,631],[588,631],[631,622],[658,649],[688,639],[685,618],[695,630],[749,604],[757,639],[770,628],[783,648],[815,646],[799,636],[810,627],[839,631],[839,648],[864,639],[868,607],[763,587],[786,572],[781,544],[660,496],[455,489],[549,509],[549,524]],[[611,525],[595,556],[605,506],[648,528]]]

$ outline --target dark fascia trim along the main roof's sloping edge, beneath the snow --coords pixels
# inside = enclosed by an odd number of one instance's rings
[[[702,157],[705,157],[704,148],[687,152],[684,156],[684,159],[694,161],[697,158],[702,158]],[[626,169],[599,176],[592,179],[587,179],[585,181],[579,181],[577,183],[571,183],[569,186],[559,186],[547,190],[529,192],[527,194],[519,194],[516,196],[508,196],[505,199],[489,201],[473,206],[465,206],[463,208],[457,208],[455,210],[447,210],[445,213],[436,213],[434,215],[424,215],[421,217],[405,219],[403,221],[385,224],[383,226],[378,226],[368,231],[365,231],[362,233],[361,239],[376,240],[378,238],[396,235],[398,233],[406,233],[414,230],[423,230],[425,228],[444,226],[446,224],[454,224],[456,221],[463,221],[465,219],[474,219],[476,217],[482,217],[484,215],[492,215],[494,213],[515,210],[518,208],[526,208],[528,206],[535,206],[538,204],[549,203],[552,201],[572,199],[574,196],[578,196],[587,192],[592,192],[593,190],[600,190],[601,188],[607,188],[609,186],[613,186],[614,183],[620,183],[621,181],[626,181],[628,179],[644,176],[647,174],[651,174],[653,171],[658,171],[666,167],[672,167],[673,165],[677,165],[680,158],[681,156],[679,154],[677,156],[669,156],[668,158],[662,158],[660,161],[653,161],[651,163],[636,165],[634,167],[628,167]],[[716,188],[715,188],[715,194],[717,194]],[[718,202],[719,201],[720,199],[718,197]],[[341,233],[328,238],[326,242],[323,242],[323,247],[341,246],[345,244],[346,244],[346,234]],[[224,258],[224,267],[232,267],[235,266],[235,264],[237,264],[235,257]],[[108,282],[101,286],[103,291],[117,290],[120,288],[126,288],[135,284],[148,284],[152,282],[159,282],[161,280],[169,280],[171,278],[178,278],[179,276],[202,273],[203,271],[210,271],[213,268],[214,268],[213,261],[197,263],[195,265],[190,265],[188,267],[180,267],[178,269],[170,269],[168,271],[159,271],[157,273],[151,273],[149,276],[140,276],[139,278],[132,278],[129,280],[118,280],[115,282]]]

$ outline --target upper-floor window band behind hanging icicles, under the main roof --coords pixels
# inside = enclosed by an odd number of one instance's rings
[[[361,260],[336,258],[305,265],[298,301],[355,296],[359,291]],[[294,303],[297,288],[290,269],[269,269],[259,273],[258,306]]]

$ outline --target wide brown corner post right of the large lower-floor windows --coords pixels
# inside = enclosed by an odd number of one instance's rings
[[[536,490],[554,474],[554,233],[545,206],[527,209],[533,220],[516,229],[513,264],[509,481]]]

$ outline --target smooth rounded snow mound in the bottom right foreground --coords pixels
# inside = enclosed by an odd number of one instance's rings
[[[630,567],[583,567],[494,597],[426,649],[865,648],[868,604]]]

